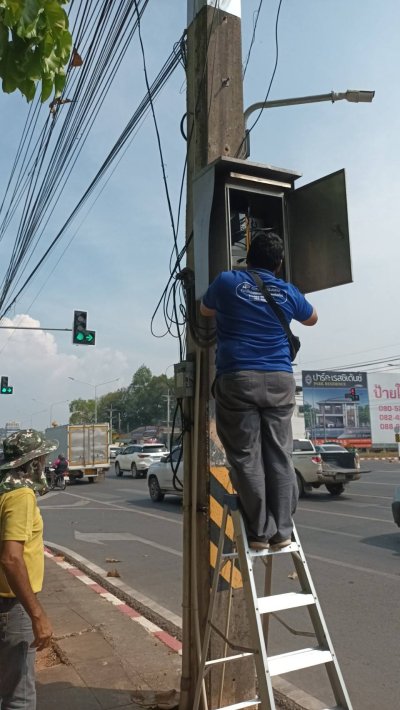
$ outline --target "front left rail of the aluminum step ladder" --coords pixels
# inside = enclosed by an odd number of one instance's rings
[[[258,694],[262,710],[276,710],[272,680],[268,668],[268,658],[264,643],[261,615],[258,611],[257,590],[254,581],[253,562],[249,553],[247,534],[243,518],[239,511],[231,511],[236,544],[239,555],[240,571],[243,579],[243,589],[246,598],[246,608],[249,620],[250,634],[253,644],[256,644],[254,662],[258,679]]]

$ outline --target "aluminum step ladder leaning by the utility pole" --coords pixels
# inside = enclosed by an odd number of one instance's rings
[[[232,516],[233,543],[236,549],[234,548],[233,552],[224,553],[225,533],[229,514]],[[318,665],[325,666],[336,702],[335,706],[330,708],[327,707],[325,710],[352,710],[350,698],[344,684],[343,676],[340,672],[335,651],[333,649],[318,597],[311,579],[311,574],[295,528],[293,538],[294,540],[290,545],[279,551],[272,551],[269,549],[261,551],[252,550],[248,545],[246,530],[242,515],[240,513],[238,496],[230,494],[226,494],[224,496],[221,532],[218,543],[213,583],[211,587],[207,624],[204,634],[193,710],[198,710],[199,707],[203,707],[203,710],[208,710],[204,693],[204,680],[207,672],[213,666],[222,664],[223,668],[225,668],[226,663],[239,662],[241,659],[248,656],[253,656],[255,663],[258,686],[256,697],[236,702],[233,705],[219,704],[218,707],[213,708],[213,710],[244,710],[245,708],[254,707],[259,707],[261,710],[276,710],[272,678],[274,676],[280,676],[285,673]],[[272,560],[274,557],[281,555],[292,556],[301,591],[271,595]],[[257,558],[262,559],[262,562],[266,568],[264,587],[265,596],[263,597],[257,597],[254,580],[253,565],[255,559]],[[229,560],[231,560],[232,563],[236,560],[239,562],[242,574],[243,592],[252,646],[249,649],[244,649],[243,647],[230,642],[228,638],[229,622],[227,623],[225,630],[221,631],[216,627],[213,621],[213,612],[217,600],[220,571],[222,566]],[[278,611],[295,609],[298,607],[306,607],[309,612],[314,633],[306,633],[305,635],[312,635],[316,639],[316,645],[310,648],[295,650],[290,653],[268,656],[266,638],[268,635],[268,621],[270,615],[276,614]],[[230,610],[228,610],[228,617],[229,615]],[[222,658],[209,659],[208,656],[212,631],[215,631],[224,639],[224,653],[227,653],[228,647],[230,647],[233,651],[239,652],[233,653],[232,655],[225,655]],[[219,693],[219,703],[222,702],[222,685],[223,674]],[[200,706],[201,698],[203,706]]]

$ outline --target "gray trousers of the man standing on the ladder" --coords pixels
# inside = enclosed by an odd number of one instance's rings
[[[298,500],[292,462],[295,381],[288,372],[242,370],[215,384],[218,436],[250,540],[290,537]]]

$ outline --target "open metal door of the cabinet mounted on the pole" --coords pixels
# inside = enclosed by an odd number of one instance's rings
[[[289,280],[303,293],[352,281],[344,170],[286,195]]]

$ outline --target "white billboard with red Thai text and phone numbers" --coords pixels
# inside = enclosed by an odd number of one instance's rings
[[[395,444],[400,432],[400,375],[369,372],[367,375],[372,441]]]

